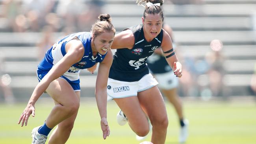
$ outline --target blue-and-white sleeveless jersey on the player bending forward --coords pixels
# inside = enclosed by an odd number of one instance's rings
[[[90,68],[95,63],[102,62],[105,55],[97,54],[95,57],[93,56],[93,52],[91,50],[91,33],[89,32],[79,32],[67,35],[60,41],[56,42],[52,48],[50,48],[46,54],[44,59],[39,63],[38,68],[41,71],[49,71],[59,60],[61,60],[66,54],[65,45],[70,40],[77,37],[83,44],[84,54],[83,58],[78,62],[72,65],[67,72],[63,74],[70,81],[76,81],[79,79],[80,69]]]

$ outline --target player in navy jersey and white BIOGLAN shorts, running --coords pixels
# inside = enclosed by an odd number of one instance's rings
[[[144,2],[138,0],[137,2]],[[109,70],[108,96],[113,98],[121,111],[117,114],[120,125],[129,122],[138,136],[149,132],[147,116],[153,126],[151,142],[164,144],[168,118],[158,82],[148,72],[147,58],[157,48],[179,78],[182,65],[178,62],[170,36],[162,29],[163,0],[147,0],[142,23],[117,34],[111,46],[117,49]],[[147,114],[147,116],[145,116]]]

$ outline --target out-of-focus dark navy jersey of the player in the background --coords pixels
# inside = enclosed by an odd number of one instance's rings
[[[173,48],[175,44],[173,43]],[[165,72],[170,72],[172,70],[171,66],[167,63],[165,57],[159,54],[152,54],[147,59],[147,65],[149,70],[153,74],[162,74]]]

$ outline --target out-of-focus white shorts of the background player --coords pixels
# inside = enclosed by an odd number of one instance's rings
[[[156,80],[159,82],[159,89],[174,89],[178,87],[179,81],[173,71],[165,72],[163,74],[154,74]]]

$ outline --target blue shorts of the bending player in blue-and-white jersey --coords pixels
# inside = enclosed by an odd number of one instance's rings
[[[37,79],[39,82],[45,77],[45,75],[49,71],[42,70],[41,68],[37,68]],[[66,78],[65,76],[60,76],[59,78],[66,79],[67,82],[71,85],[71,87],[74,89],[74,91],[80,91],[80,79],[75,81],[70,81],[70,79]]]

